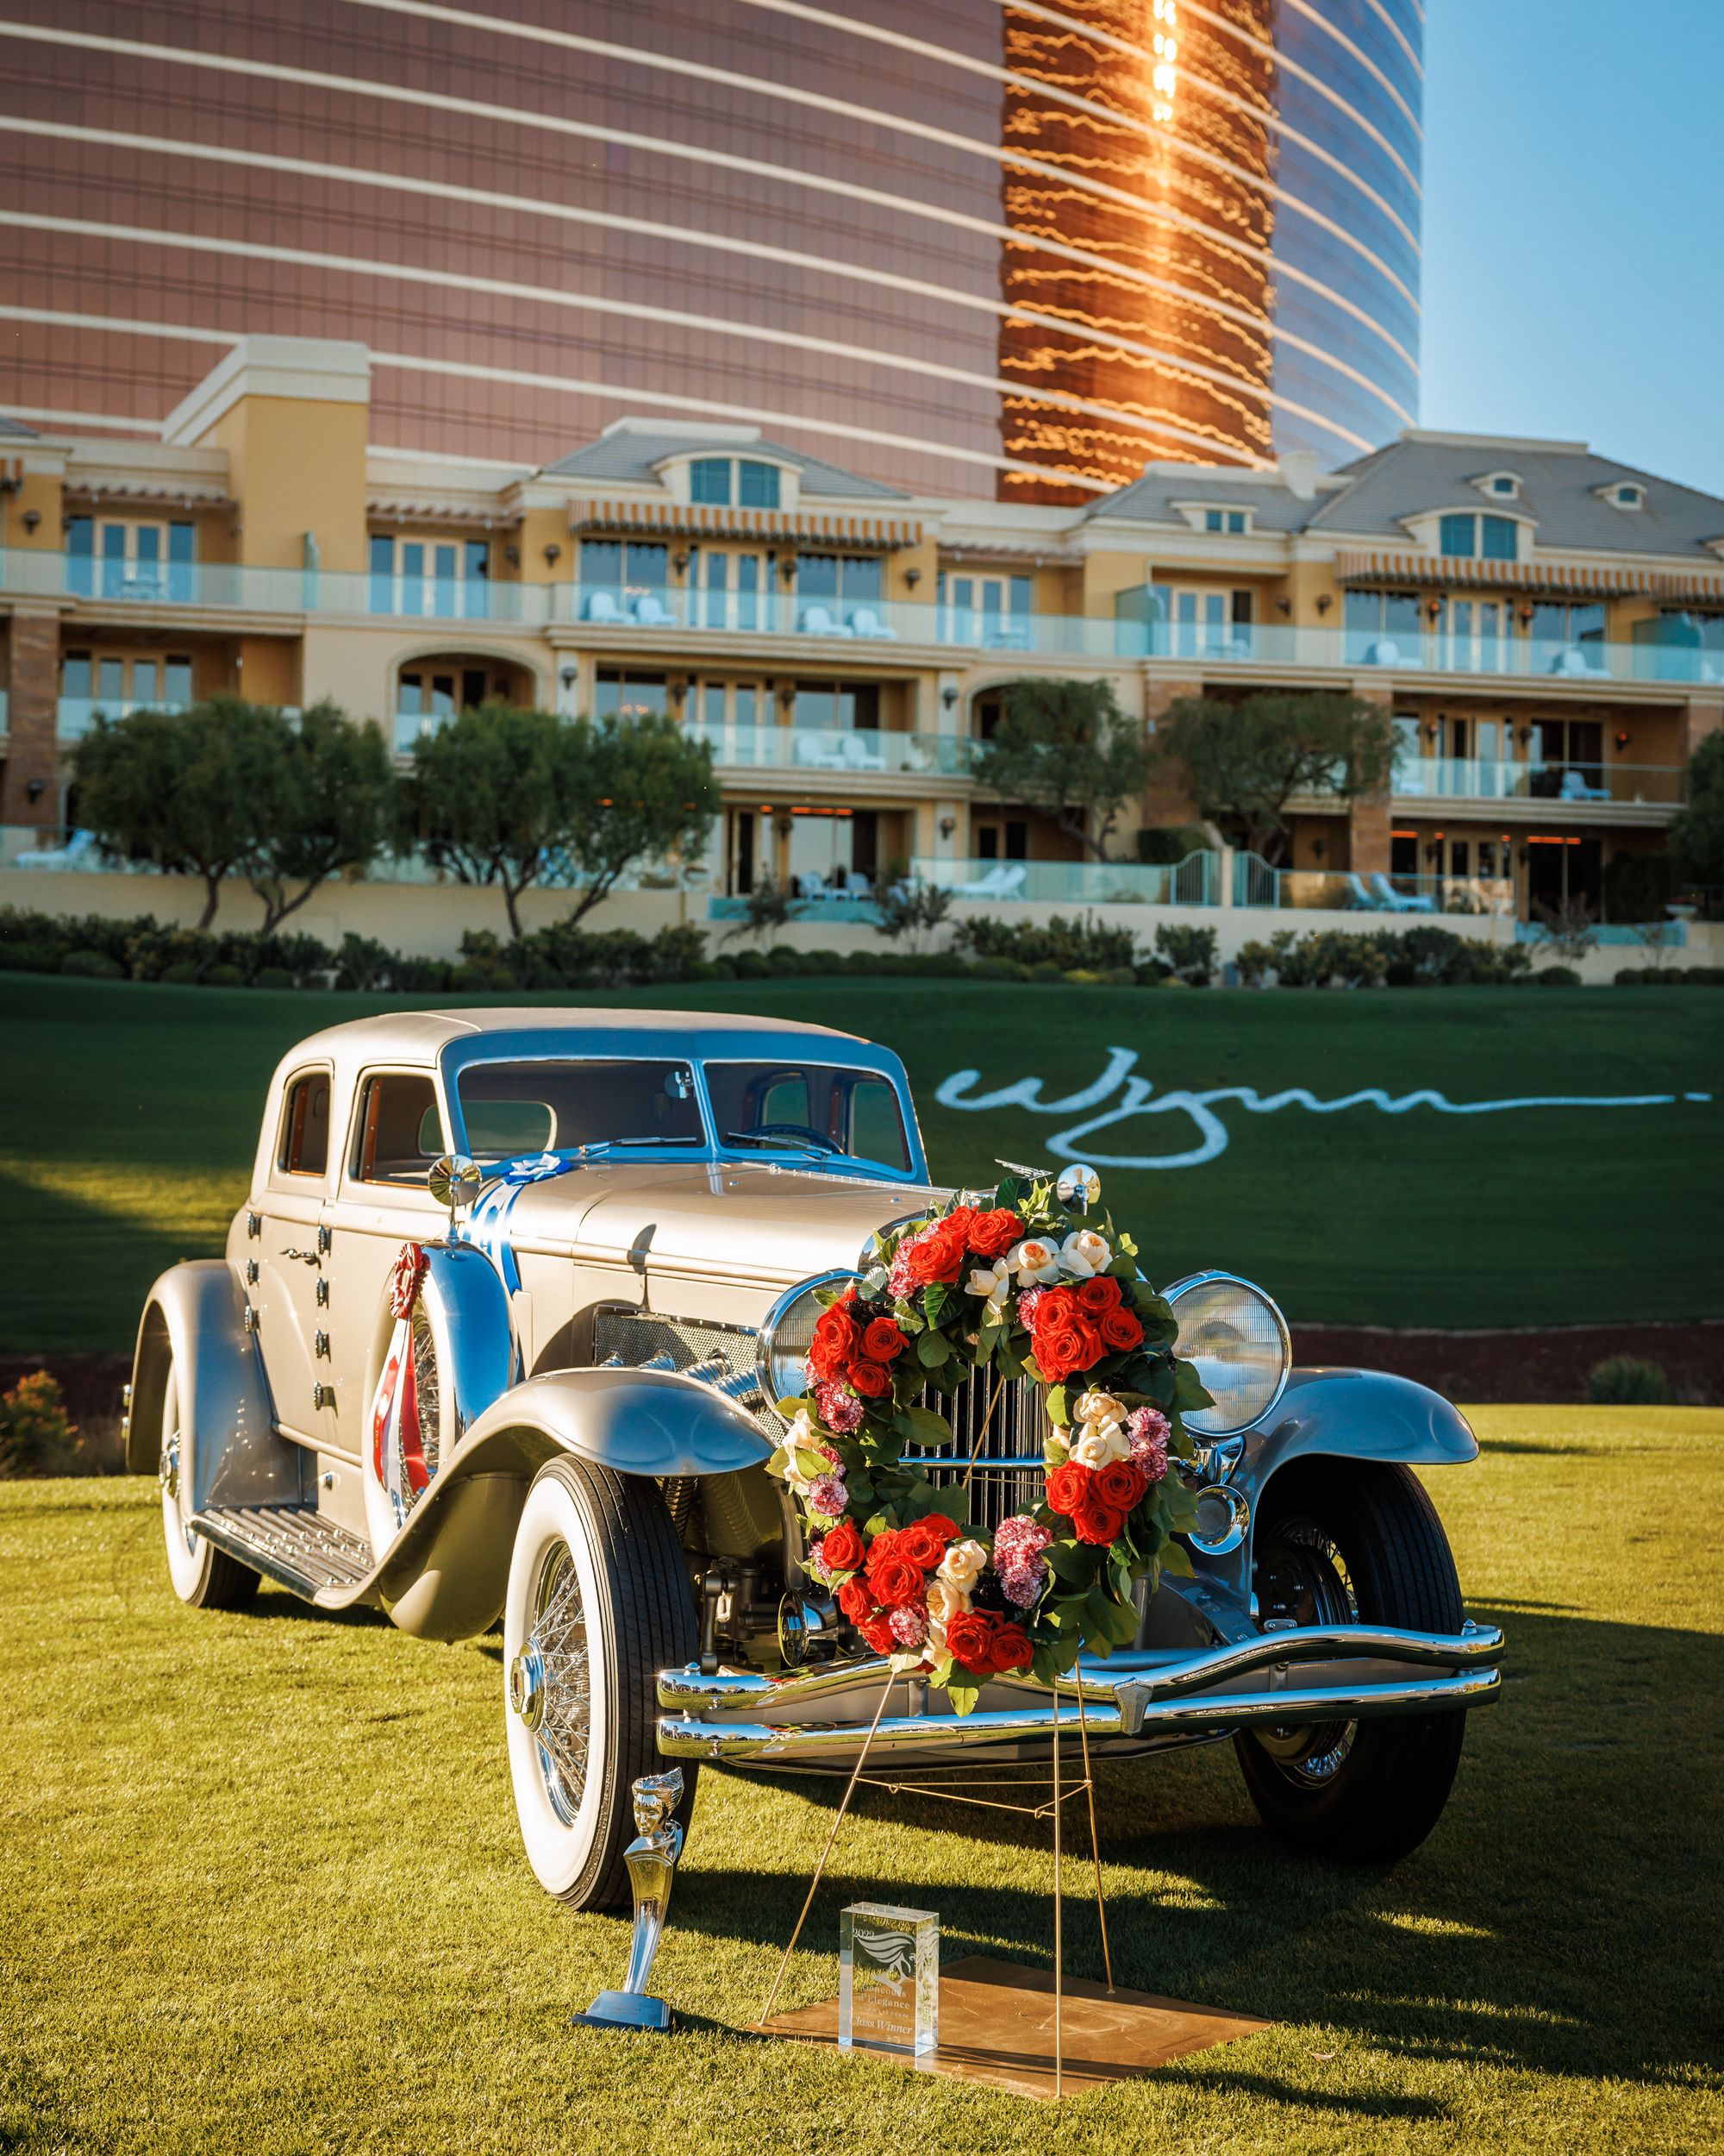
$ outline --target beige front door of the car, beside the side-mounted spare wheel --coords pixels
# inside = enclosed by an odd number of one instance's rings
[[[403,1242],[435,1242],[448,1214],[425,1175],[448,1151],[435,1074],[369,1069],[353,1089],[353,1119],[330,1210],[334,1281],[332,1367],[343,1447],[358,1451],[371,1406],[379,1311]]]

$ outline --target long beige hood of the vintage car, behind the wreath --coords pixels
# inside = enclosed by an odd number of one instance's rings
[[[853,1268],[868,1235],[946,1192],[743,1162],[571,1169],[528,1184],[509,1212],[517,1250],[616,1259],[657,1272],[789,1287]]]

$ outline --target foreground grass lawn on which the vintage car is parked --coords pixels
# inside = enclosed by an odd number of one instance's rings
[[[1062,2117],[737,2033],[830,1820],[800,1781],[703,1777],[657,1966],[683,2033],[573,2031],[625,1923],[532,1884],[493,1641],[274,1589],[183,1611],[151,1485],[0,1485],[0,2147],[1715,2150],[1724,1414],[1478,1425],[1431,1490],[1508,1684],[1435,1835],[1388,1876],[1325,1867],[1259,1833],[1228,1749],[1106,1770],[1118,1979],[1276,2027]],[[948,1958],[1045,1966],[1045,1830],[976,1818],[864,1792],[787,2003],[836,1988],[858,1897],[937,1908]],[[1067,1910],[1067,1966],[1099,1973]]]

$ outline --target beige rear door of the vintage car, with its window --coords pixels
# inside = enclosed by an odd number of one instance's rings
[[[328,1345],[334,1072],[308,1063],[282,1087],[282,1119],[261,1192],[259,1276],[250,1283],[259,1348],[284,1436],[351,1451],[338,1436]]]

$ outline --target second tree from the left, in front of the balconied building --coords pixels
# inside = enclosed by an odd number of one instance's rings
[[[244,862],[263,901],[265,936],[274,936],[328,875],[362,869],[388,843],[397,778],[384,735],[332,703],[315,703],[297,729],[289,729],[272,793],[272,813]],[[300,888],[291,890],[293,884]]]

